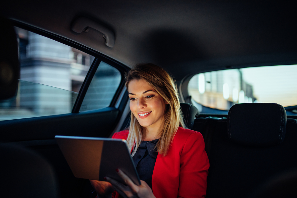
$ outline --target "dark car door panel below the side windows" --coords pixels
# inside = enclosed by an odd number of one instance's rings
[[[21,145],[43,156],[56,172],[61,197],[93,196],[89,181],[72,174],[54,136],[108,137],[116,126],[119,112],[115,107],[107,107],[82,113],[1,121],[0,140],[4,144]]]

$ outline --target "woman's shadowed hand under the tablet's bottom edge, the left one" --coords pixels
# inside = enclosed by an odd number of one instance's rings
[[[97,192],[97,195],[101,198],[111,198],[111,194],[114,191],[113,186],[111,183],[107,181],[97,181],[97,180],[90,180],[91,185]]]

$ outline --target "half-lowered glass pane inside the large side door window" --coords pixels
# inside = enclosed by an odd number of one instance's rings
[[[71,113],[78,93],[19,80],[15,97],[0,101],[0,120]]]

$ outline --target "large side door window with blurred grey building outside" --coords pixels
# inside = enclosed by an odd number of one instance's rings
[[[21,28],[15,30],[19,87],[14,98],[0,101],[0,121],[71,113],[94,56]]]

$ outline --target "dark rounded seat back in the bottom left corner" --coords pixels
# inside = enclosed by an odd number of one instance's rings
[[[0,144],[0,156],[0,197],[58,197],[56,174],[39,154],[18,145]]]

